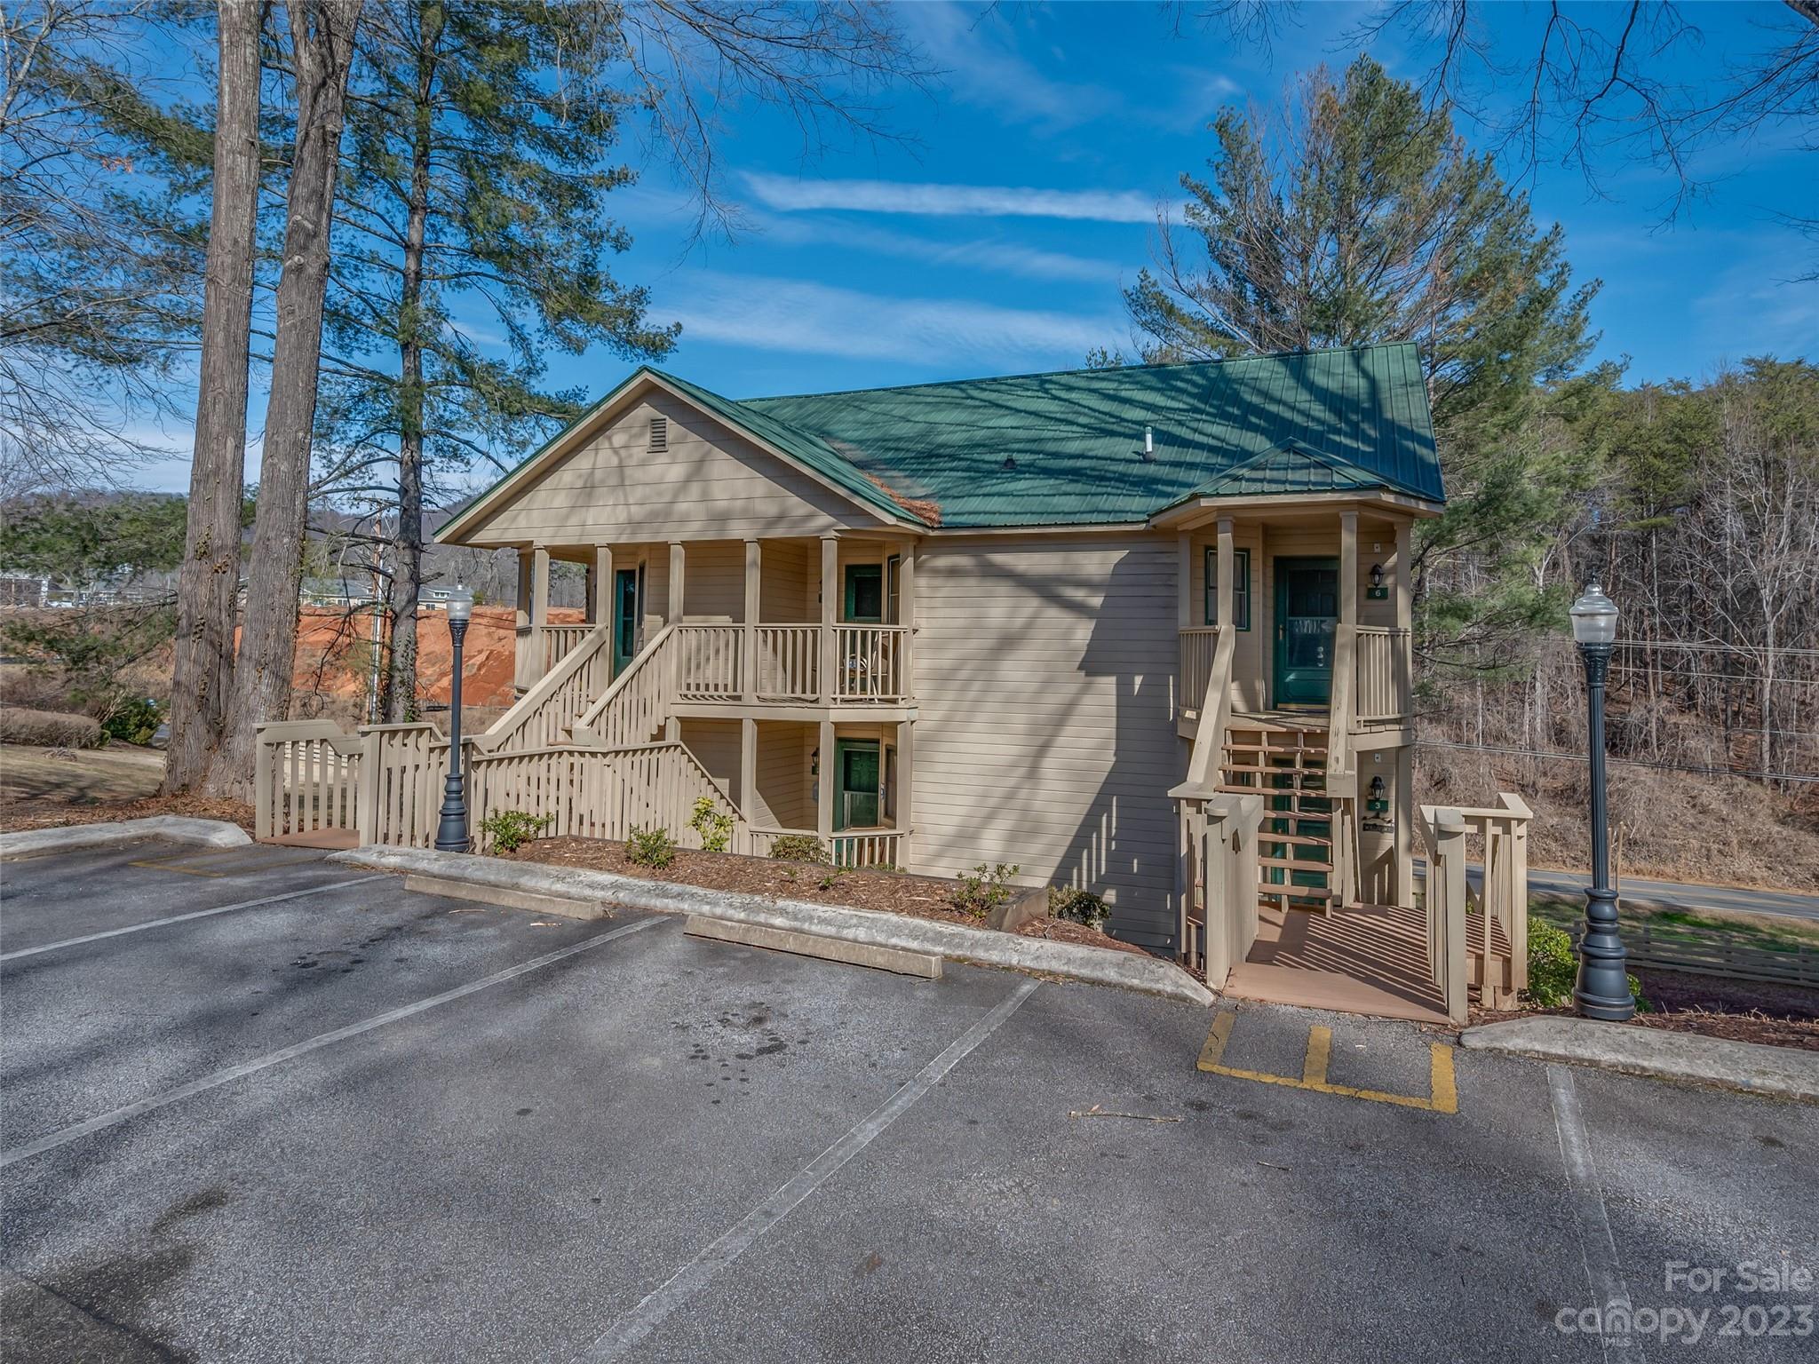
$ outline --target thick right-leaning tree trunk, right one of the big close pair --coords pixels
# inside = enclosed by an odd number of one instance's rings
[[[309,502],[311,426],[322,360],[322,302],[329,276],[329,224],[347,96],[347,67],[360,0],[293,0],[296,151],[286,202],[284,273],[271,353],[271,400],[258,469],[258,513],[247,569],[246,624],[235,660],[227,737],[207,787],[253,797],[255,727],[287,718],[296,653],[296,589]]]

